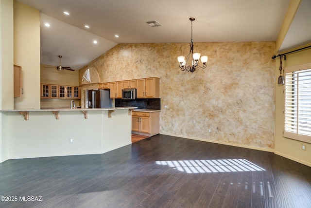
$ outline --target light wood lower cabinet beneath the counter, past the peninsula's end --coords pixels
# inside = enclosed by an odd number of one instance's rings
[[[160,112],[132,112],[132,132],[153,136],[160,133]]]

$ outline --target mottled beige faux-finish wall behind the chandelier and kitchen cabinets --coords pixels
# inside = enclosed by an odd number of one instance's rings
[[[87,68],[101,82],[160,77],[161,133],[273,150],[275,42],[195,43],[208,62],[193,74],[177,62],[189,50],[188,43],[119,44],[82,68],[79,80]]]

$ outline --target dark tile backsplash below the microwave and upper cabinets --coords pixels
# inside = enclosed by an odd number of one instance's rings
[[[160,98],[135,99],[135,100],[116,99],[115,106],[116,107],[137,106],[138,108],[141,109],[161,110],[161,99]]]

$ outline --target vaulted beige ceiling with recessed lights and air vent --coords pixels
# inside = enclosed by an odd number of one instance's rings
[[[276,41],[290,4],[290,0],[18,1],[40,11],[41,63],[58,65],[62,55],[62,65],[74,69],[118,43],[190,42],[190,17],[196,19],[194,42]],[[280,50],[311,40],[310,10],[311,1],[302,0]],[[146,23],[152,20],[161,26]]]

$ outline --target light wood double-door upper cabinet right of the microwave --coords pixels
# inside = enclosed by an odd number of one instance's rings
[[[159,98],[160,78],[137,79],[137,98]]]

